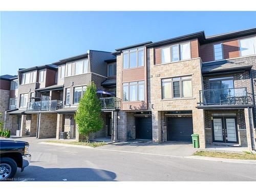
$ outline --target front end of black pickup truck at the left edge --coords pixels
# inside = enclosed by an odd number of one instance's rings
[[[23,172],[30,159],[28,142],[0,139],[0,181],[11,180],[17,167],[22,168]]]

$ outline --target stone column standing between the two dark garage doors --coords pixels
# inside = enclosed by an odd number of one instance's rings
[[[152,140],[161,142],[161,112],[155,110],[152,111]]]

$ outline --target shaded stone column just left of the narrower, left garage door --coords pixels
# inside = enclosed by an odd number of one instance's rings
[[[117,119],[118,119],[117,139],[119,141],[126,141],[127,140],[126,112],[119,111]]]

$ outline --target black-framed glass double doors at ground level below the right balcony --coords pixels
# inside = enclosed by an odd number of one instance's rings
[[[214,142],[238,143],[236,117],[214,117],[212,127]]]

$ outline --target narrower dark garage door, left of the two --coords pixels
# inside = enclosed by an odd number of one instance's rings
[[[152,140],[152,118],[136,118],[136,139]]]

